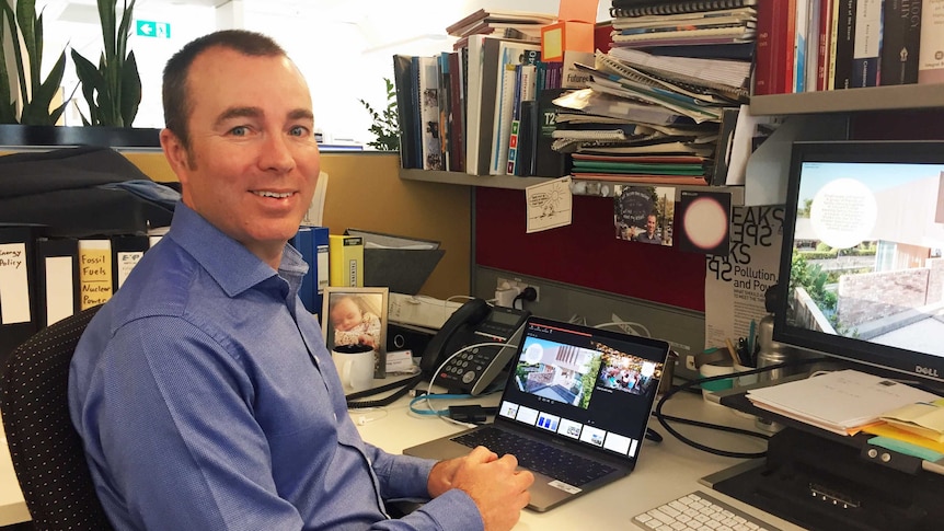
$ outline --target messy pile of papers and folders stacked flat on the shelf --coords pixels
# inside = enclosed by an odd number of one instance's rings
[[[724,183],[717,139],[748,96],[749,64],[614,47],[579,68],[589,73],[589,86],[555,101],[569,112],[557,117],[554,148],[572,153],[575,177]]]

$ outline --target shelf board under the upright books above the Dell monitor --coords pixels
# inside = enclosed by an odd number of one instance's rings
[[[750,99],[750,114],[792,115],[944,107],[944,85],[905,84],[771,94]]]

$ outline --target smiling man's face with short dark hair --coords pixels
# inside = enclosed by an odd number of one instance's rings
[[[189,148],[161,134],[184,203],[277,267],[320,171],[304,79],[286,57],[214,47],[194,60],[186,90]]]

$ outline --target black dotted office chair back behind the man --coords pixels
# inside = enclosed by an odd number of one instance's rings
[[[13,470],[37,530],[111,531],[69,418],[69,362],[101,307],[59,321],[16,347],[0,380]]]

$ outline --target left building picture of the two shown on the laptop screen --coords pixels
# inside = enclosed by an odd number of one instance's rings
[[[586,409],[599,367],[596,350],[528,337],[515,382],[526,393]]]

